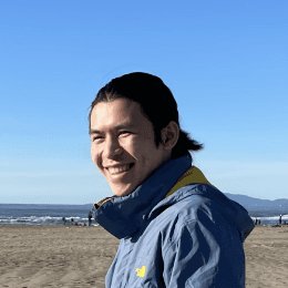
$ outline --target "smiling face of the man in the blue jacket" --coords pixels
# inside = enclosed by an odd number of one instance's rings
[[[167,158],[152,123],[126,99],[97,103],[91,113],[91,155],[116,196],[131,194]],[[114,155],[117,154],[117,157]]]

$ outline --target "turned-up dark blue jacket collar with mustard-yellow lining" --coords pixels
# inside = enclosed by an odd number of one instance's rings
[[[127,196],[106,197],[94,204],[95,220],[119,239],[132,237],[148,222],[152,209],[191,183],[209,184],[187,156],[171,160]]]

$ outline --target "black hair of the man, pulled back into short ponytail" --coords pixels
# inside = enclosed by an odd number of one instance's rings
[[[172,150],[171,158],[187,155],[193,161],[189,151],[195,152],[204,148],[204,144],[191,138],[189,133],[181,128],[177,103],[171,90],[160,78],[143,72],[133,72],[115,78],[99,91],[91,104],[89,128],[91,128],[93,107],[100,102],[110,102],[116,99],[128,99],[140,104],[143,115],[153,124],[157,147],[162,142],[162,128],[166,127],[171,121],[177,123],[179,137]]]

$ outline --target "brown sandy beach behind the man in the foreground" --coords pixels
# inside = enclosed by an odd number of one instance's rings
[[[101,226],[0,226],[0,287],[99,287],[119,239]],[[246,287],[288,287],[288,227],[256,226],[245,241]]]

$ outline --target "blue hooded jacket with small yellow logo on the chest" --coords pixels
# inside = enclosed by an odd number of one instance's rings
[[[245,287],[254,222],[191,165],[172,160],[132,194],[95,205],[95,220],[121,239],[106,288]]]

